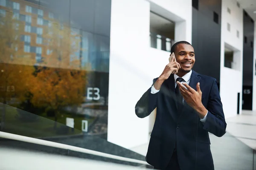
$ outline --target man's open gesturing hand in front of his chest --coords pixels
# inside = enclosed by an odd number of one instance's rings
[[[185,88],[180,82],[177,82],[177,85],[180,88],[180,93],[183,96],[183,99],[187,102],[189,106],[191,106],[195,111],[198,112],[201,119],[204,118],[204,116],[207,114],[207,109],[202,104],[202,91],[200,89],[200,83],[196,85],[197,91],[195,91],[193,88],[191,88],[186,83],[183,83],[183,85],[187,88]]]

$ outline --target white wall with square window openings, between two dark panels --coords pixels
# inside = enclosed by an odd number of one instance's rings
[[[227,12],[230,8],[231,14]],[[230,23],[231,30],[227,30]],[[239,31],[239,38],[236,31]],[[224,67],[225,43],[236,51],[239,70]],[[235,55],[234,55],[235,56]],[[225,117],[237,115],[237,93],[240,93],[240,113],[242,99],[242,70],[243,70],[243,9],[236,6],[236,0],[222,0],[221,9],[221,75],[220,95]],[[234,82],[236,79],[236,82]]]

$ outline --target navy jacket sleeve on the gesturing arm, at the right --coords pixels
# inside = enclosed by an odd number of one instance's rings
[[[208,102],[207,119],[203,125],[204,130],[209,131],[215,136],[221,137],[226,133],[227,123],[225,121],[216,79],[214,79],[212,83]]]

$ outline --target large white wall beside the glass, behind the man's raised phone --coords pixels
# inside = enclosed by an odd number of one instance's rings
[[[154,1],[111,2],[108,141],[126,148],[148,142],[149,117],[138,118],[135,105],[151,87],[152,80],[162,73],[169,59],[168,52],[150,48],[150,10],[154,8],[154,12],[167,14],[164,17],[170,20],[174,17],[175,21],[185,22],[186,33],[178,40],[191,42],[192,39],[191,0]]]

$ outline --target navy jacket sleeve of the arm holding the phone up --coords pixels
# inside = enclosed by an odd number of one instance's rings
[[[153,85],[157,79],[153,80]],[[151,86],[152,87],[152,86]],[[157,96],[159,92],[156,94],[151,94],[151,88],[149,88],[140,98],[135,106],[135,113],[139,118],[144,118],[157,107]]]

